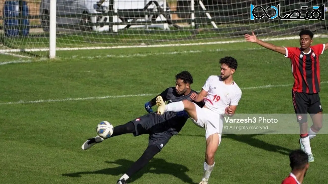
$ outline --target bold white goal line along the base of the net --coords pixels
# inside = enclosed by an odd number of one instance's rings
[[[327,38],[327,35],[316,34],[314,38]],[[281,37],[281,38],[266,38],[263,41],[277,41],[277,40],[295,40],[299,39],[299,36]],[[96,46],[96,47],[67,47],[67,48],[56,48],[56,50],[94,50],[94,49],[115,49],[115,48],[145,48],[145,47],[168,47],[168,46],[199,46],[199,45],[213,45],[213,44],[231,44],[246,42],[242,40],[232,41],[218,41],[218,42],[204,42],[204,43],[189,43],[189,44],[163,44],[163,45],[135,45],[135,46]],[[31,49],[0,49],[0,52],[37,52],[37,51],[49,51],[48,48],[31,48]]]

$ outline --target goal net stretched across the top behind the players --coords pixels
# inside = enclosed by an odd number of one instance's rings
[[[51,3],[56,7],[52,19]],[[266,38],[297,36],[304,28],[325,34],[328,13],[325,14],[327,8],[321,9],[324,3],[323,0],[0,0],[0,53],[48,57],[51,43],[57,51],[215,44],[241,40],[251,31]],[[264,8],[279,4],[282,17],[295,9],[301,16],[307,11],[310,16],[313,7],[319,6],[325,20],[280,20],[266,16],[251,20],[251,4]],[[271,8],[267,13],[273,16],[276,11]],[[257,8],[254,14],[259,16],[263,11]],[[55,20],[52,26],[51,20]]]

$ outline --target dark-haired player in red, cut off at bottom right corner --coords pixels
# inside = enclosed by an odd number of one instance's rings
[[[308,155],[302,150],[294,150],[289,154],[292,172],[281,184],[302,184],[309,168]]]

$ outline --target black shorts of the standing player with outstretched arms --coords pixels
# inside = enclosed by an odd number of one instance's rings
[[[307,122],[307,114],[322,112],[319,93],[308,94],[292,91],[293,105],[298,122]]]

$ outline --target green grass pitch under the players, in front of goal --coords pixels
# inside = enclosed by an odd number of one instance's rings
[[[316,39],[314,44],[325,42],[328,39]],[[298,46],[298,40],[271,43]],[[234,79],[241,88],[290,84],[243,89],[236,113],[294,113],[289,59],[250,43],[58,51],[53,61],[24,58],[30,63],[13,64],[4,62],[21,59],[1,55],[0,183],[116,183],[141,156],[148,135],[122,135],[81,150],[82,143],[95,136],[97,123],[107,120],[115,126],[147,113],[144,103],[173,86],[174,75],[182,70],[191,72],[192,88],[199,91],[209,75],[219,74],[218,60],[226,55],[238,61]],[[327,60],[326,51],[320,56],[322,82],[328,81]],[[327,91],[328,84],[322,83],[324,111]],[[139,94],[145,95],[129,96]],[[83,99],[104,96],[111,97]],[[188,120],[129,182],[197,184],[203,173],[204,133]],[[223,135],[209,183],[281,183],[289,175],[288,153],[299,148],[298,138],[297,134]],[[311,140],[315,162],[303,184],[328,180],[327,144],[325,134]]]

